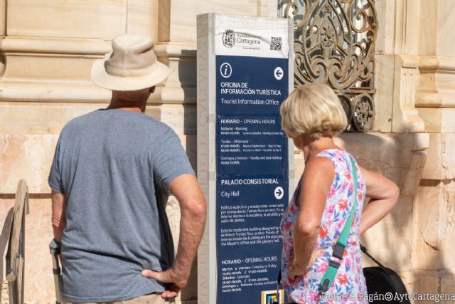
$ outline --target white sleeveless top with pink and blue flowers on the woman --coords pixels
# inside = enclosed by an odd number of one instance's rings
[[[321,229],[316,239],[314,250],[323,248],[323,253],[316,258],[313,266],[304,276],[297,276],[292,280],[287,269],[287,261],[294,254],[293,231],[299,207],[295,200],[299,194],[300,184],[296,187],[294,196],[289,202],[281,223],[283,236],[282,252],[282,283],[287,292],[288,300],[299,304],[316,303],[318,298],[319,283],[328,268],[328,260],[332,254],[332,247],[338,240],[344,224],[349,217],[350,209],[354,204],[353,170],[351,168],[350,154],[343,150],[324,150],[316,155],[327,157],[335,166],[335,178],[328,191],[326,207],[321,219]],[[356,164],[358,176],[358,199],[350,229],[348,245],[338,268],[331,288],[319,303],[368,303],[365,277],[362,271],[362,258],[360,255],[359,225],[362,218],[363,201],[365,199],[365,181]]]

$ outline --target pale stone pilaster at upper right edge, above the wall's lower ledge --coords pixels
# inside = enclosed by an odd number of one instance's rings
[[[421,1],[416,107],[427,132],[455,132],[454,3]]]

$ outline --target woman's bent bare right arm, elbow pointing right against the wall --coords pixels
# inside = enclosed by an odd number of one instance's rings
[[[374,224],[384,218],[395,206],[400,195],[400,189],[390,179],[381,174],[360,167],[367,187],[366,196],[371,200],[363,209],[360,234],[363,234]]]

